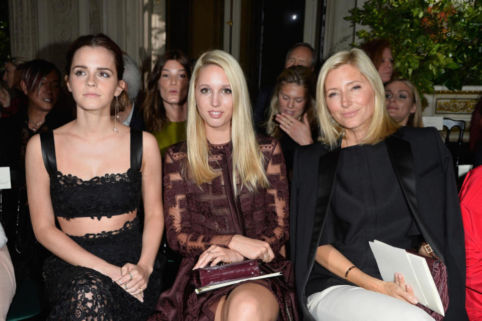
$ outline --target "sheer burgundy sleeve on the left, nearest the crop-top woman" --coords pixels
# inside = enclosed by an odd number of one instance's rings
[[[164,166],[166,236],[171,249],[183,256],[197,258],[211,245],[227,247],[233,234],[214,235],[199,231],[202,224],[197,216],[202,216],[202,213],[189,211],[185,186],[194,183],[185,182],[181,175],[183,159],[186,159],[186,154],[174,153],[172,147],[166,152]]]

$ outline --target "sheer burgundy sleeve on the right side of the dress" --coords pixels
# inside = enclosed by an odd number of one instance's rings
[[[281,146],[273,139],[267,156],[266,175],[270,187],[265,194],[268,226],[261,238],[268,242],[274,253],[278,253],[289,235],[289,193],[286,166]]]

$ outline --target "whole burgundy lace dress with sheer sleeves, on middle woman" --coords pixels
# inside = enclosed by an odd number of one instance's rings
[[[239,208],[244,219],[246,236],[268,242],[276,253],[269,266],[283,271],[283,277],[262,280],[276,297],[279,318],[293,316],[290,296],[293,296],[291,262],[279,251],[288,238],[288,181],[281,147],[274,138],[259,138],[265,156],[265,171],[269,189],[258,188],[251,193],[239,191]],[[160,312],[150,319],[213,320],[217,303],[236,286],[228,286],[197,295],[194,292],[192,268],[202,252],[211,245],[227,247],[235,229],[235,201],[232,196],[231,143],[210,145],[209,165],[219,172],[213,181],[200,187],[183,178],[187,162],[185,144],[173,145],[166,153],[164,168],[164,213],[167,239],[171,248],[183,256],[179,272],[171,289],[160,295],[156,309]],[[290,316],[288,316],[290,314]]]

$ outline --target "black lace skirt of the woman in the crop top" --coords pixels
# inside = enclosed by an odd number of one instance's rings
[[[142,248],[137,218],[116,231],[69,237],[119,267],[137,263]],[[52,256],[44,263],[46,294],[52,306],[48,320],[145,320],[157,302],[163,264],[158,257],[144,290],[144,302],[140,302],[110,277]]]

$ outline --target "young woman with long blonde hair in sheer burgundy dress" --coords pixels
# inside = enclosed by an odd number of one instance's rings
[[[159,319],[276,320],[294,317],[280,256],[288,237],[288,181],[281,147],[257,138],[237,61],[220,50],[197,61],[188,96],[187,141],[165,156],[167,239],[183,256]],[[279,279],[245,282],[197,295],[192,270],[261,259]]]

